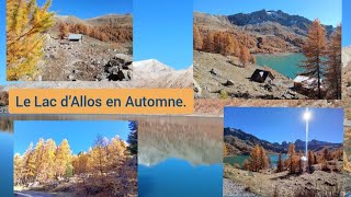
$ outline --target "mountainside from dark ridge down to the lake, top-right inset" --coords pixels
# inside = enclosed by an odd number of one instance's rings
[[[250,51],[257,53],[298,53],[307,35],[312,21],[291,15],[281,10],[260,10],[252,13],[213,15],[194,13],[194,25],[204,34],[207,31],[223,31],[233,34],[239,42],[246,42]],[[325,25],[327,35],[333,26]]]

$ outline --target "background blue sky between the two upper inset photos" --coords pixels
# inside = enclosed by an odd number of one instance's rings
[[[193,63],[191,0],[134,1],[134,60],[158,59],[176,68]]]

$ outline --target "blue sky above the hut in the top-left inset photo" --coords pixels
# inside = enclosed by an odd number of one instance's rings
[[[46,0],[38,0],[42,5]],[[133,13],[133,0],[53,0],[50,11],[59,15],[76,15],[89,19],[105,14]]]

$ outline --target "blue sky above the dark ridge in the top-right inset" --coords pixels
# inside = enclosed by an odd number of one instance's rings
[[[194,10],[213,14],[250,13],[258,10],[282,10],[325,24],[341,23],[341,0],[194,0]]]

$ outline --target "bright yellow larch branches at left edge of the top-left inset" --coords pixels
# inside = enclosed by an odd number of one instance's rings
[[[33,80],[38,72],[37,62],[43,58],[45,32],[54,24],[52,4],[42,8],[36,0],[7,1],[7,80],[23,77]]]

